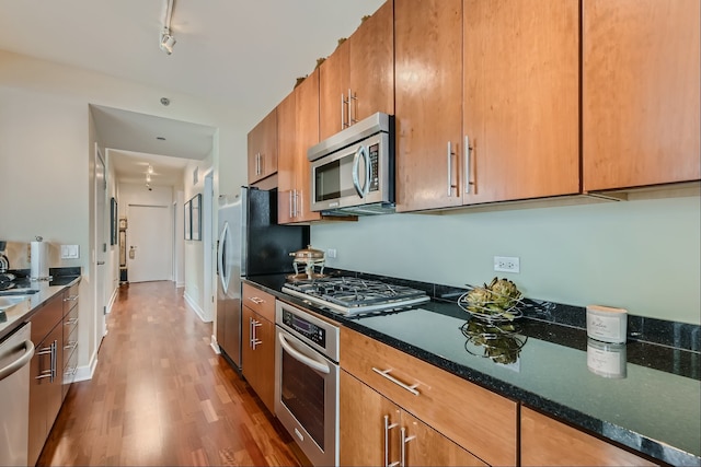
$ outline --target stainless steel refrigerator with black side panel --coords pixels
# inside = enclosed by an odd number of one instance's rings
[[[277,191],[242,187],[219,208],[217,343],[241,369],[241,278],[292,272],[290,253],[309,244],[308,225],[277,224]]]

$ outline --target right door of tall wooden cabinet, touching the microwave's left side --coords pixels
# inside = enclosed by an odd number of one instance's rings
[[[321,219],[311,211],[311,168],[307,151],[319,142],[319,69],[295,90],[297,97],[297,148],[295,157],[294,214],[296,222]]]

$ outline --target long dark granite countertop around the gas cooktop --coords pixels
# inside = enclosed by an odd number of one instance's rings
[[[541,303],[515,322],[516,334],[501,340],[501,346],[522,345],[520,351],[492,359],[475,345],[479,339],[468,339],[461,329],[468,314],[456,304],[459,290],[411,283],[425,288],[432,302],[397,313],[345,317],[283,293],[284,275],[246,281],[614,444],[671,465],[701,465],[698,326],[629,316],[628,343],[604,345],[587,338],[584,308],[553,311],[553,304]],[[667,334],[673,336],[667,339]],[[643,336],[648,340],[635,339]],[[675,346],[680,341],[683,347]]]

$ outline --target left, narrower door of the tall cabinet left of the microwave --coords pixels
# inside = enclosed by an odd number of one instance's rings
[[[296,189],[297,128],[295,108],[296,93],[292,91],[277,106],[277,222],[294,222]]]

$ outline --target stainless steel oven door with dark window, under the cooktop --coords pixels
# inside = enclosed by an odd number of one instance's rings
[[[279,326],[275,415],[313,465],[338,465],[338,365]]]

